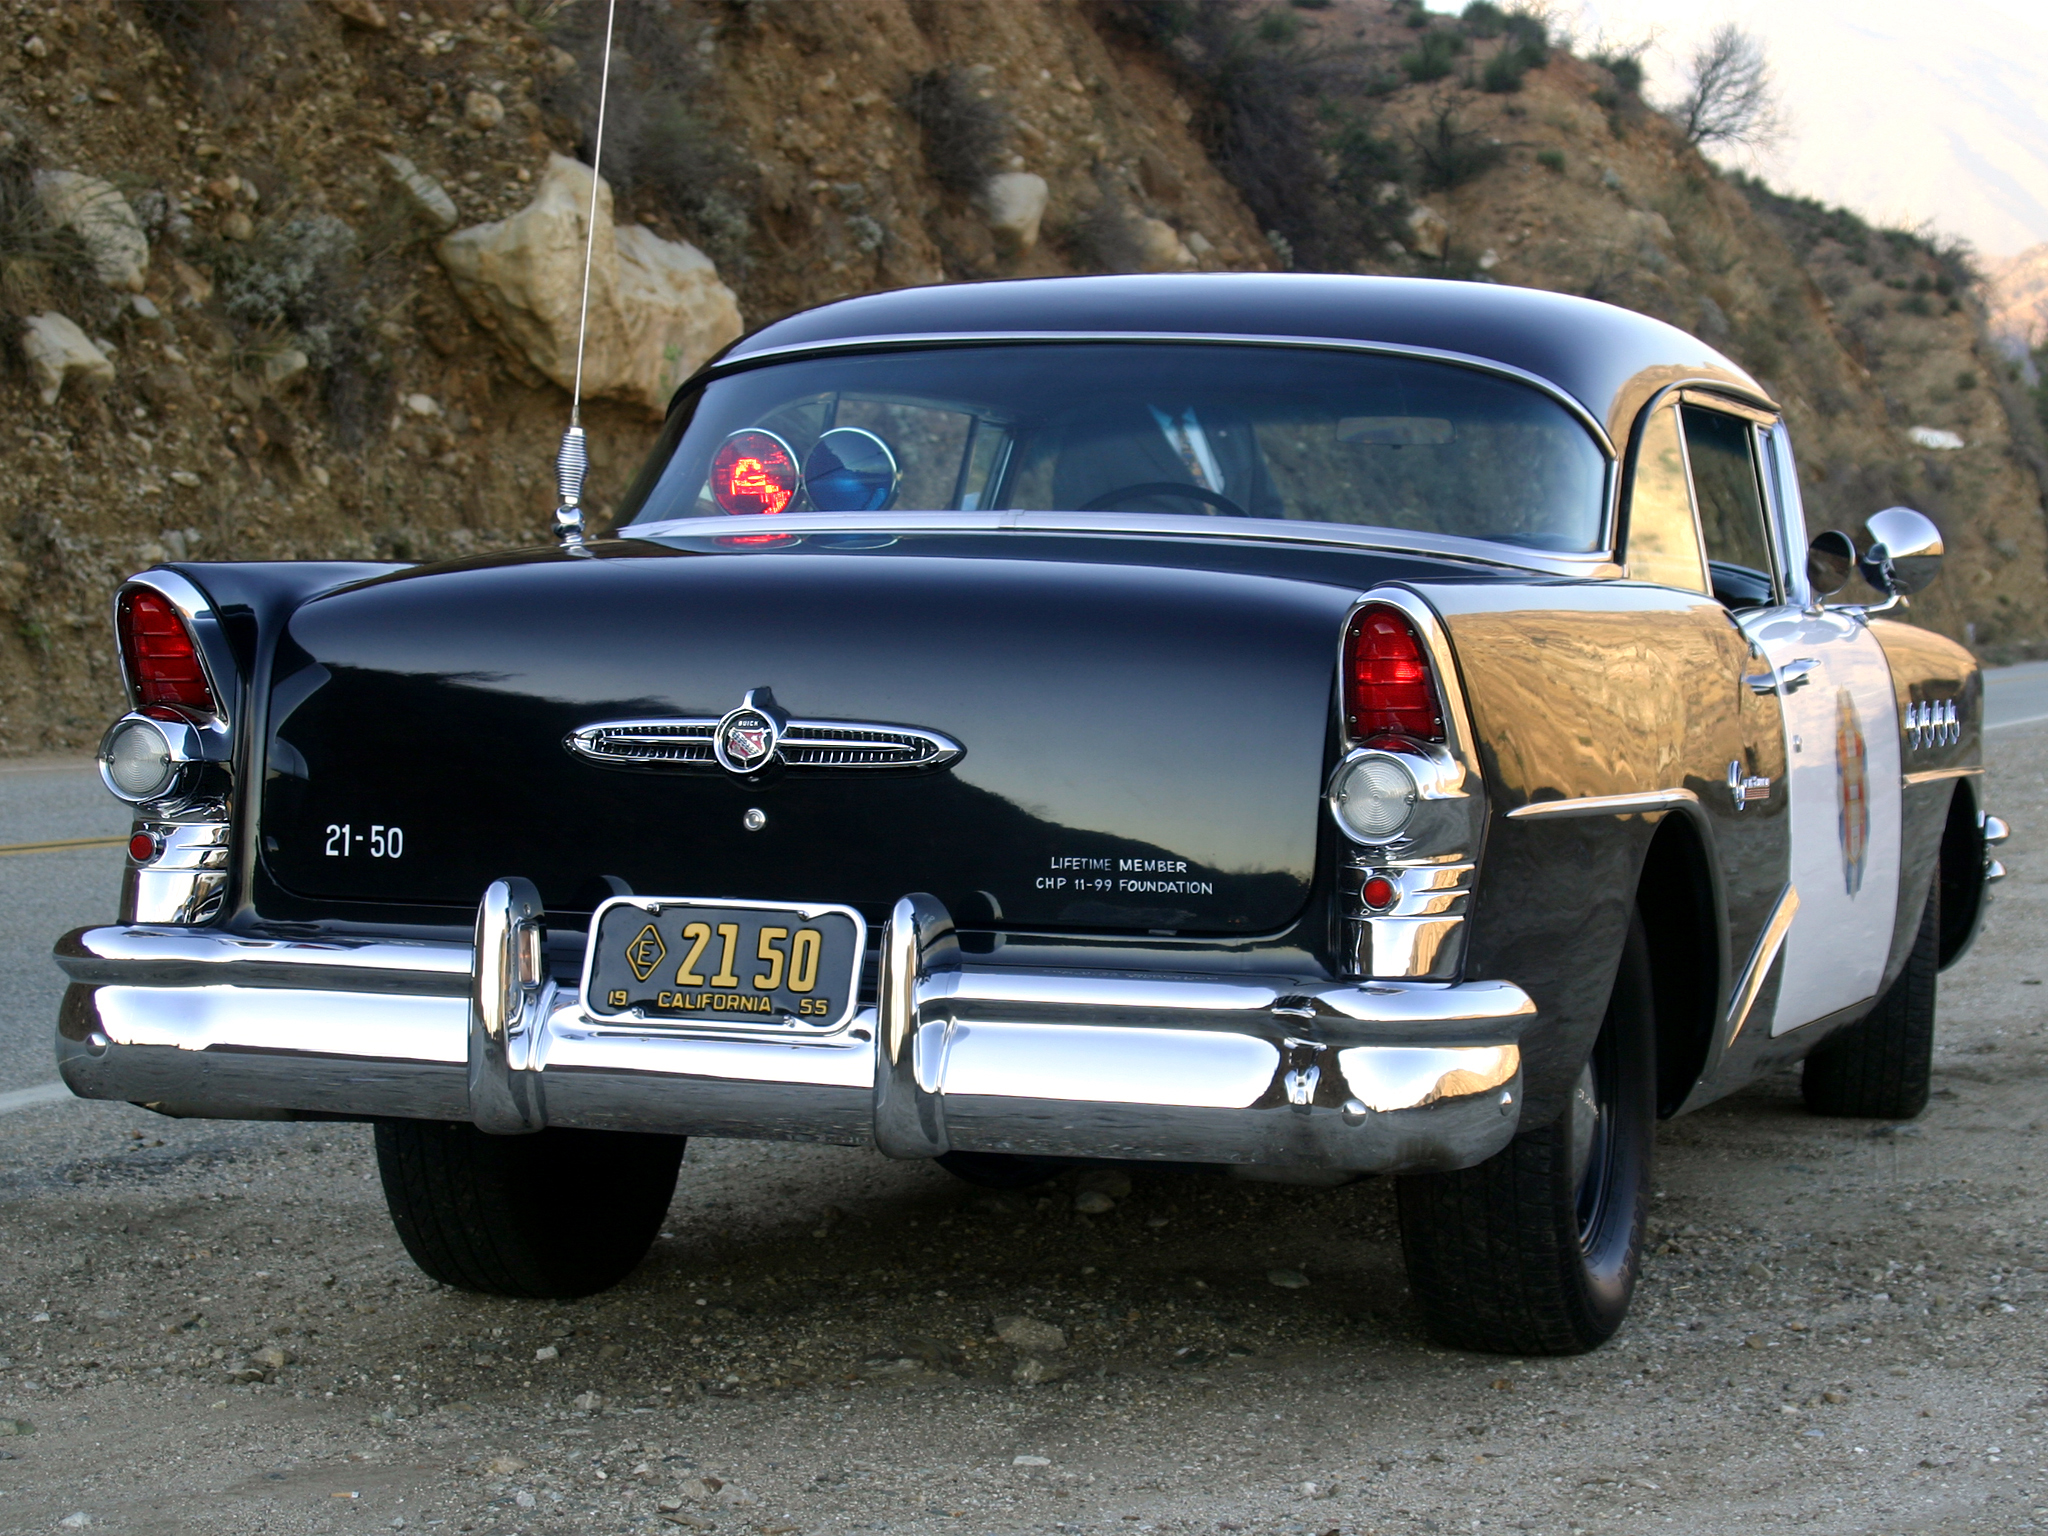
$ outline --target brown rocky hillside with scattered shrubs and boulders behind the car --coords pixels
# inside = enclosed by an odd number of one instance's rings
[[[0,12],[0,752],[96,737],[119,694],[106,598],[139,565],[541,535],[596,18]],[[702,356],[846,293],[1427,272],[1708,336],[1786,399],[1817,524],[1892,500],[1944,522],[1952,573],[1917,618],[2038,641],[2044,463],[1966,274],[1718,178],[1610,63],[1491,6],[1452,25],[1384,0],[621,0],[590,500],[602,520]]]

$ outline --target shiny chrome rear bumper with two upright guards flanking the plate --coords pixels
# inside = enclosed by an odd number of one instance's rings
[[[1520,987],[969,965],[932,897],[883,936],[881,997],[829,1040],[590,1020],[520,975],[524,881],[477,944],[86,928],[57,1063],[168,1114],[473,1120],[1405,1171],[1466,1167],[1522,1114]]]

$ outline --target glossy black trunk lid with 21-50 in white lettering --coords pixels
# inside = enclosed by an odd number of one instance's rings
[[[424,567],[293,614],[262,803],[281,887],[467,907],[524,874],[557,911],[631,891],[870,920],[930,891],[977,928],[1272,932],[1313,881],[1337,627],[1399,573],[1016,535],[594,549]],[[717,721],[754,688],[799,721],[963,752],[743,778],[565,745]]]

